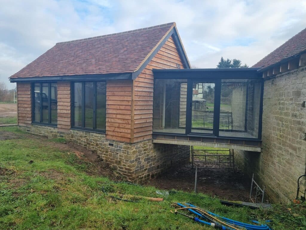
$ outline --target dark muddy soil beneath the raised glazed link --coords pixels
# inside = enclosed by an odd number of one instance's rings
[[[197,192],[218,196],[230,201],[248,201],[249,184],[248,179],[238,169],[198,169]],[[195,183],[195,168],[191,163],[175,171],[147,182],[148,185],[165,190],[183,190],[193,192]]]

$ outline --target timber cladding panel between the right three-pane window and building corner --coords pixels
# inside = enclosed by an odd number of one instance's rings
[[[106,139],[131,142],[132,80],[106,82]]]

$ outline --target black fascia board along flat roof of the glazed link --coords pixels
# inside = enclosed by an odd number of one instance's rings
[[[260,79],[260,68],[153,69],[154,79]]]

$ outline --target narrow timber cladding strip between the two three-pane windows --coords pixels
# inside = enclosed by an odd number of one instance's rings
[[[71,89],[70,82],[57,82],[58,88],[58,131],[69,132],[71,128]]]

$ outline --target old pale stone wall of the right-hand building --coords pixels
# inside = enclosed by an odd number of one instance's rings
[[[306,67],[264,82],[262,153],[235,151],[235,163],[251,178],[255,173],[272,202],[296,196],[297,178],[306,168]],[[305,196],[305,180],[300,196]]]

